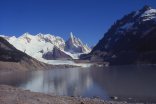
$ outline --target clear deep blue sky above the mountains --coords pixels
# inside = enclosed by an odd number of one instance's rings
[[[123,15],[156,0],[0,0],[0,34],[50,33],[64,39],[73,32],[90,46]]]

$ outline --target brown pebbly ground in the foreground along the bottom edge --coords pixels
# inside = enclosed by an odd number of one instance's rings
[[[7,85],[0,85],[0,104],[128,104],[99,99],[74,98],[30,92]]]

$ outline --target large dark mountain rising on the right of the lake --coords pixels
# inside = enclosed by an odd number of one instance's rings
[[[144,6],[117,20],[83,59],[112,65],[156,63],[156,9]]]

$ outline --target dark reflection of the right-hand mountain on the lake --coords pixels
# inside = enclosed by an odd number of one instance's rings
[[[102,71],[92,70],[92,78],[105,88],[110,96],[156,98],[156,67],[153,66],[122,66],[109,67]]]

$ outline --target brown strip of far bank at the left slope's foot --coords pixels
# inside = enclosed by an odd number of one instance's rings
[[[74,68],[79,66],[74,65],[51,65],[40,62],[39,64],[29,65],[25,62],[4,62],[0,61],[0,72],[15,72],[15,71],[37,71],[37,70],[53,70],[53,69],[59,69],[59,68]]]

